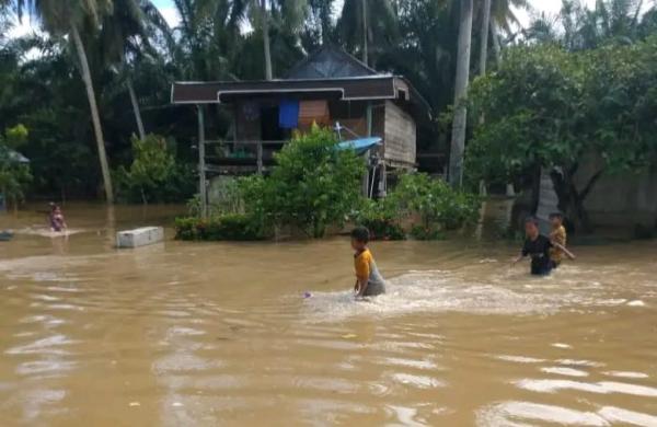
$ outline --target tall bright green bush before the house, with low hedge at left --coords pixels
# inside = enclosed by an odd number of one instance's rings
[[[361,197],[365,163],[353,150],[337,150],[336,145],[335,135],[319,127],[296,136],[276,154],[269,176],[239,180],[240,203],[234,200],[235,188],[229,185],[228,199],[244,214],[214,209],[207,222],[195,217],[181,219],[176,222],[178,238],[252,240],[268,235],[276,227],[322,238],[328,227],[346,221]]]

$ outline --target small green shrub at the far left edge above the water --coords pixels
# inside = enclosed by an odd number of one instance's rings
[[[32,181],[30,166],[21,163],[15,149],[24,145],[27,129],[16,125],[0,135],[0,195],[11,200],[14,209],[24,198],[24,188]]]

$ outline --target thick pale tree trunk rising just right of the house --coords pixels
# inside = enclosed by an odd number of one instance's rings
[[[468,107],[465,95],[470,80],[470,49],[472,43],[472,0],[461,0],[461,22],[459,23],[459,54],[457,58],[457,81],[454,86],[454,120],[449,158],[449,181],[452,186],[463,184],[463,152]]]

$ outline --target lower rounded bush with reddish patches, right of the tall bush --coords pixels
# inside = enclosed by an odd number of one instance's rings
[[[435,240],[443,231],[475,223],[480,207],[477,197],[454,191],[441,180],[424,173],[404,174],[387,198],[365,205],[357,222],[379,239],[403,239],[410,224],[415,239]]]

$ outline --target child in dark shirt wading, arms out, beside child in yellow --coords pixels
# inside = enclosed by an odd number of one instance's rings
[[[519,263],[527,256],[531,257],[531,274],[534,276],[546,276],[552,273],[553,264],[551,258],[551,251],[557,249],[566,254],[570,259],[575,259],[567,249],[562,244],[551,241],[544,235],[541,235],[539,231],[539,221],[533,218],[527,218],[525,220],[525,245],[522,246],[522,253],[516,259],[514,264]]]

